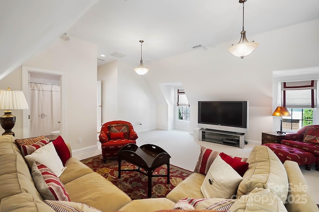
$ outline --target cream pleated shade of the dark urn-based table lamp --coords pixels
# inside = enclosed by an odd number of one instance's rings
[[[21,90],[0,90],[0,110],[24,110],[28,104]]]

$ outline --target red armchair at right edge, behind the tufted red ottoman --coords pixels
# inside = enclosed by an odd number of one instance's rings
[[[281,144],[311,152],[316,156],[316,170],[319,171],[319,125],[309,125],[297,133],[287,134]]]

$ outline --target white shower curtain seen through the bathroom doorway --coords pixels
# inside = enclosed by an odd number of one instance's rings
[[[30,83],[30,136],[60,130],[60,85]]]

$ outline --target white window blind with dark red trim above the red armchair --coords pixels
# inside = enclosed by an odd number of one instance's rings
[[[285,107],[317,107],[317,80],[282,82],[281,91],[281,102]]]

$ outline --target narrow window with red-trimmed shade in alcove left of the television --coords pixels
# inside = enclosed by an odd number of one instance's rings
[[[176,92],[177,120],[189,121],[189,103],[184,89],[177,89]]]

